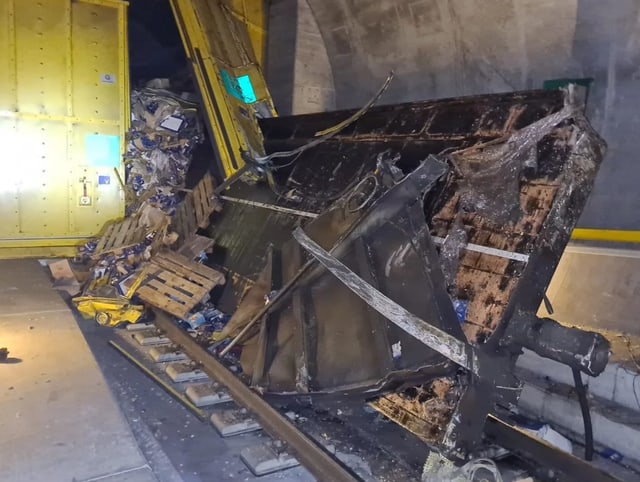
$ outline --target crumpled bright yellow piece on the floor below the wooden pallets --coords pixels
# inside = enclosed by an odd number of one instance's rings
[[[121,323],[135,323],[144,313],[144,306],[132,305],[124,297],[78,296],[72,301],[83,318],[94,319],[104,326],[114,327]]]

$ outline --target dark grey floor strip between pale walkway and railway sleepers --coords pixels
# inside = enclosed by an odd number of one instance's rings
[[[208,420],[199,420],[108,343],[114,341],[135,353],[138,343],[131,337],[136,331],[114,330],[86,320],[78,320],[78,324],[160,482],[254,480],[240,459],[240,450],[269,440],[266,434],[223,439]],[[313,480],[303,467],[260,478],[260,482]]]

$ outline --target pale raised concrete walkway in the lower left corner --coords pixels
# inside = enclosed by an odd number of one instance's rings
[[[0,261],[0,308],[0,478],[157,480],[37,261]]]

